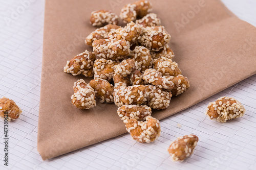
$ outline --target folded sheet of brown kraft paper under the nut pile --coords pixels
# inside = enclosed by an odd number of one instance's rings
[[[131,1],[134,2],[134,1]],[[172,98],[166,110],[153,111],[163,119],[256,74],[256,29],[233,16],[219,1],[151,1],[153,12],[172,36],[174,61],[191,87]],[[92,48],[84,39],[95,30],[94,10],[119,15],[127,1],[46,0],[44,56],[37,150],[46,160],[126,132],[114,104],[79,110],[71,103],[73,83],[84,78],[63,72],[67,60]],[[201,113],[199,113],[201,114]],[[171,133],[171,132],[170,132]]]

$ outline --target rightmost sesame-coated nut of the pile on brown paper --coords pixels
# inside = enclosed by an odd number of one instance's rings
[[[177,77],[166,76],[165,78],[167,78],[168,80],[171,79],[170,81],[174,83],[174,88],[169,89],[174,96],[182,94],[184,91],[186,91],[187,88],[190,87],[189,81],[185,76],[182,76],[182,75],[178,75]]]

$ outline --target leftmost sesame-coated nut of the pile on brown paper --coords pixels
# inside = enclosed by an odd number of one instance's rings
[[[82,74],[86,77],[92,77],[94,60],[95,54],[86,50],[67,61],[64,72],[71,73],[73,76]]]

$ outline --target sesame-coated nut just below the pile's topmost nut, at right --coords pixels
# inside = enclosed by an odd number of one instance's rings
[[[155,13],[149,13],[141,19],[136,20],[136,23],[143,27],[155,27],[161,25],[161,20]]]

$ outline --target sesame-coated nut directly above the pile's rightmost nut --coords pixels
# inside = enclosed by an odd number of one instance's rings
[[[172,60],[162,57],[154,62],[154,68],[161,72],[163,76],[178,76],[181,75],[181,70],[178,67],[176,62]]]

